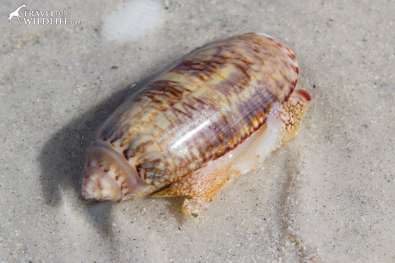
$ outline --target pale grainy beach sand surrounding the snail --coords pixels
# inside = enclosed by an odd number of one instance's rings
[[[0,4],[1,262],[395,262],[393,1],[24,3],[80,25],[5,24],[23,3]],[[199,222],[182,198],[84,206],[86,147],[134,84],[248,31],[298,58],[297,137]]]

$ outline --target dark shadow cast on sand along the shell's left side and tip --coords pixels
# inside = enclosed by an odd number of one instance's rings
[[[133,96],[150,79],[152,74],[138,82],[121,88],[110,98],[100,101],[78,117],[69,121],[46,140],[38,161],[41,168],[40,182],[44,203],[59,206],[64,190],[75,193],[76,206],[82,206],[87,219],[102,235],[111,235],[111,202],[91,203],[81,199],[81,184],[86,149],[95,130],[125,99]]]

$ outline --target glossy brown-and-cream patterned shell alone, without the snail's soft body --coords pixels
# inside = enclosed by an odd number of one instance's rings
[[[88,151],[83,195],[121,201],[187,177],[264,125],[297,77],[293,52],[264,34],[197,49],[127,99],[99,129]],[[93,194],[93,187],[108,191]]]

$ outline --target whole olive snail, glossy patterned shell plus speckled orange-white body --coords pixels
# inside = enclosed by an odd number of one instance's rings
[[[88,148],[82,195],[186,196],[199,216],[228,182],[292,138],[309,94],[294,53],[245,33],[206,45],[127,99]],[[294,92],[293,92],[294,91]]]

